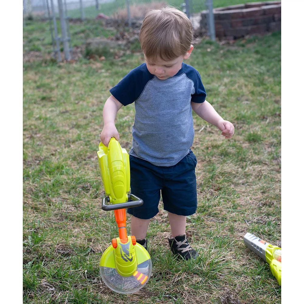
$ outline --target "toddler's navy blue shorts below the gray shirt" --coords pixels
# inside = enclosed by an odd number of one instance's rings
[[[197,208],[195,166],[196,157],[190,152],[176,165],[155,166],[130,155],[131,193],[143,199],[143,205],[127,212],[140,219],[150,219],[158,213],[162,196],[164,210],[188,216]]]

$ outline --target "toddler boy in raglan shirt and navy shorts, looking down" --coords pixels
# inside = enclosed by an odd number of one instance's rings
[[[206,101],[199,72],[183,63],[193,50],[192,24],[183,12],[170,6],[147,12],[139,40],[146,62],[110,89],[100,138],[105,146],[111,137],[119,140],[116,114],[123,105],[134,102],[130,183],[131,192],[143,199],[143,205],[127,210],[132,215],[131,234],[147,248],[147,229],[159,211],[162,195],[171,227],[171,251],[188,260],[198,256],[186,237],[186,216],[197,208],[197,161],[190,150],[192,109],[218,127],[225,138],[233,136],[234,127]]]

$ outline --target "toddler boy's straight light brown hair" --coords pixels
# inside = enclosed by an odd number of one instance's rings
[[[187,15],[166,6],[149,10],[140,28],[139,41],[150,61],[171,61],[185,55],[193,44],[193,27]]]

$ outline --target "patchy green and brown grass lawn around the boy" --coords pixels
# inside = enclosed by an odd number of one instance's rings
[[[47,23],[28,26],[25,52],[33,43],[47,52]],[[72,30],[81,39],[111,34],[83,25]],[[147,234],[153,263],[148,284],[122,295],[101,281],[99,260],[118,236],[114,212],[101,209],[96,151],[102,109],[109,89],[143,61],[135,53],[117,60],[24,62],[23,303],[281,303],[268,265],[243,243],[250,232],[281,244],[280,33],[231,46],[203,40],[186,61],[200,72],[207,100],[235,126],[225,140],[193,114],[198,208],[187,232],[199,258],[185,262],[171,255],[160,204]],[[127,150],[133,121],[134,106],[123,107],[116,126]],[[130,233],[129,216],[127,225]]]

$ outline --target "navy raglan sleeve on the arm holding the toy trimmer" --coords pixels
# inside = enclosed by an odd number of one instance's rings
[[[110,89],[110,93],[123,105],[129,105],[140,96],[147,83],[153,78],[154,75],[143,63],[126,74],[117,85]]]

